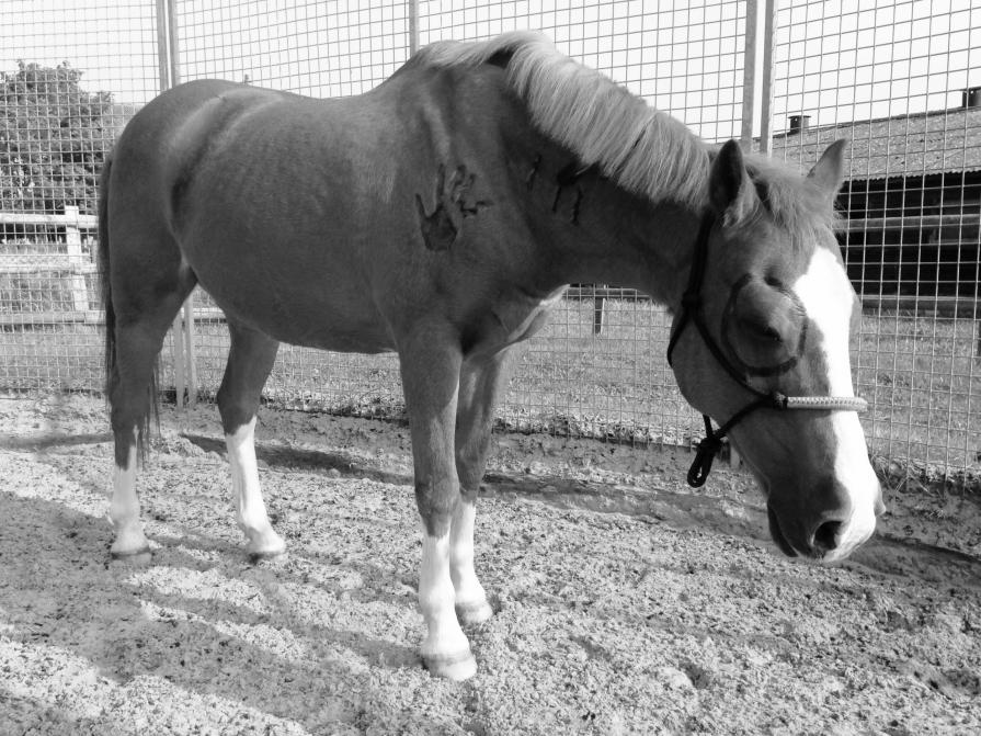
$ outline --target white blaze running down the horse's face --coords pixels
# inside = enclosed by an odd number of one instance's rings
[[[844,268],[828,248],[815,247],[807,271],[792,286],[818,327],[819,346],[828,369],[829,396],[854,396],[848,359],[848,329],[855,295]],[[852,501],[852,518],[842,530],[840,546],[829,561],[845,557],[868,539],[876,528],[879,480],[868,461],[865,434],[854,411],[832,411],[835,439],[834,474]]]

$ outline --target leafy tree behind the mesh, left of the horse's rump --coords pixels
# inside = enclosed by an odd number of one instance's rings
[[[112,94],[84,91],[81,77],[68,61],[0,72],[0,211],[95,213],[116,120]]]

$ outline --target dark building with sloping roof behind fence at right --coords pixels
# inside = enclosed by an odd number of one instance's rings
[[[981,88],[959,107],[810,127],[790,118],[776,158],[810,166],[847,138],[839,206],[848,275],[866,308],[978,316],[981,268]]]

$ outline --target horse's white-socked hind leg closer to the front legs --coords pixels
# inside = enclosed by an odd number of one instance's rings
[[[272,557],[282,554],[286,543],[273,530],[262,500],[255,463],[255,412],[280,343],[240,325],[229,324],[229,331],[231,348],[218,389],[218,410],[231,465],[236,521],[248,540],[248,553]]]

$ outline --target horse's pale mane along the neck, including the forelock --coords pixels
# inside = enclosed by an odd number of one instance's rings
[[[499,63],[535,125],[597,166],[617,184],[652,202],[695,210],[708,199],[714,147],[604,75],[560,53],[543,34],[518,31],[480,43],[444,41],[417,59],[437,67]],[[746,167],[766,211],[791,231],[833,224],[826,200],[790,167],[758,155]]]

